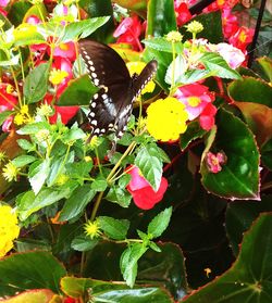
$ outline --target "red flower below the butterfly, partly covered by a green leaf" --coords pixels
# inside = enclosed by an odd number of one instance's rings
[[[127,174],[132,176],[132,179],[126,187],[133,197],[134,203],[141,210],[151,210],[154,204],[160,202],[164,192],[168,189],[168,180],[162,177],[158,191],[154,191],[150,184],[141,176],[137,166],[129,166]]]

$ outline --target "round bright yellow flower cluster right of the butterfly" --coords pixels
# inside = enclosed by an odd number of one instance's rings
[[[186,131],[188,114],[176,98],[159,99],[147,109],[147,130],[157,140],[175,141]]]

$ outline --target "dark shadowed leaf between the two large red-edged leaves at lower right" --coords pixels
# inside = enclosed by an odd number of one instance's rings
[[[239,252],[239,244],[245,231],[263,212],[272,212],[272,195],[262,195],[261,201],[239,201],[228,203],[226,209],[226,232],[235,255]]]

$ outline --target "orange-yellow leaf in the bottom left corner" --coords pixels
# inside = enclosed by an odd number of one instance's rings
[[[1,303],[50,303],[54,293],[49,289],[24,291],[13,298],[1,300]]]

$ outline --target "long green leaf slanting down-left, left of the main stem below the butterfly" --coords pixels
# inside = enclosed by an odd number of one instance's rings
[[[69,220],[82,214],[95,194],[96,191],[90,188],[89,184],[78,187],[65,201],[59,219]]]

